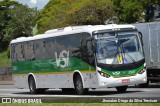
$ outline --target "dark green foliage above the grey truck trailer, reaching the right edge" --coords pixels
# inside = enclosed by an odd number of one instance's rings
[[[160,6],[160,0],[112,0],[116,6],[118,23],[152,21],[151,6]],[[143,14],[144,13],[144,14]]]

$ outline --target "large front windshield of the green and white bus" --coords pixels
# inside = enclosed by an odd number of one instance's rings
[[[110,32],[96,34],[97,62],[102,64],[128,64],[144,59],[137,32]]]

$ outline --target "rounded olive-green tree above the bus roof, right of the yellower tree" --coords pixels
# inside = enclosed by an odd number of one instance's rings
[[[115,16],[114,7],[110,0],[84,0],[75,4],[67,16],[71,25],[104,24],[106,20]]]

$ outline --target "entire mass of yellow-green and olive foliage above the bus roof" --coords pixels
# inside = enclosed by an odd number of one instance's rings
[[[104,24],[115,15],[111,0],[50,0],[38,14],[38,31],[71,25]]]

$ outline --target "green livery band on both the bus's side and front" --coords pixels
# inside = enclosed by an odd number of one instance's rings
[[[21,74],[24,75],[29,73],[66,74],[66,73],[72,73],[75,70],[79,70],[82,73],[96,72],[95,71],[96,69],[93,66],[75,57],[70,57],[67,66],[64,68],[62,68],[60,64],[64,65],[63,62],[60,62],[59,66],[57,66],[56,59],[13,62],[12,63],[13,75],[21,75]],[[143,68],[144,65],[132,70],[112,71],[112,70],[102,69],[101,71],[113,77],[127,77],[136,75]]]

